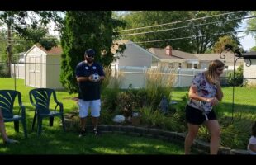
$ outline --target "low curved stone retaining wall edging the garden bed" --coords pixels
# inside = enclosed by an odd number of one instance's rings
[[[73,120],[65,120],[65,125],[67,130],[71,126],[73,128],[79,128],[78,121]],[[184,140],[186,137],[185,133],[171,132],[167,130],[159,130],[154,128],[145,128],[140,126],[133,125],[99,125],[99,130],[102,133],[121,133],[121,134],[129,134],[135,136],[145,136],[149,138],[162,139],[164,141],[169,141],[175,144],[184,144]],[[92,125],[88,125],[88,129],[92,130]],[[192,145],[192,152],[199,154],[209,154],[210,144],[201,140],[195,140]],[[226,147],[220,147],[218,154],[249,154],[247,150],[242,149],[231,149]]]

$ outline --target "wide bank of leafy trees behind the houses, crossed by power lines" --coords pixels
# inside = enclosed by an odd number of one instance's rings
[[[121,31],[121,35],[134,42],[162,40],[158,42],[145,42],[143,44],[145,48],[164,48],[166,45],[172,45],[173,49],[176,50],[202,54],[209,48],[211,49],[211,46],[219,40],[220,36],[226,35],[226,32],[230,32],[232,38],[237,40],[235,29],[242,21],[239,18],[245,16],[247,12],[231,12],[228,15],[215,16],[226,12],[229,11],[145,11],[137,14],[130,12],[130,14],[126,14],[124,20],[127,21],[126,29],[132,28],[134,30]],[[206,18],[197,19],[200,17]],[[158,26],[168,22],[173,23],[166,26]],[[135,29],[145,26],[151,27]],[[145,31],[148,31],[148,33],[130,35]],[[177,38],[178,40],[167,40]],[[238,40],[237,43],[239,45]]]

